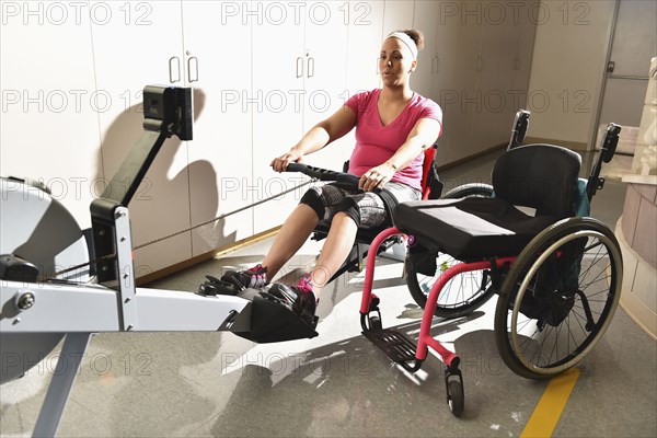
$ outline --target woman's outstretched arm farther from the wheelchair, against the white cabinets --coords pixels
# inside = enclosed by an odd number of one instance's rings
[[[343,137],[356,125],[356,113],[344,105],[331,117],[313,126],[289,152],[272,160],[272,168],[283,172],[289,163],[298,163],[303,155],[316,152],[330,142]]]

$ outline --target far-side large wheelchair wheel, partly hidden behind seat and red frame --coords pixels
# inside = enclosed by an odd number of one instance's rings
[[[446,193],[443,199],[459,199],[468,197],[492,197],[493,186],[488,184],[464,184]],[[453,257],[438,253],[436,255],[436,273],[420,274],[410,256],[404,262],[406,285],[413,300],[424,309],[431,287],[438,277],[452,265],[460,263]],[[436,304],[436,316],[460,318],[470,314],[491,299],[491,277],[486,270],[463,273],[453,277],[440,291]]]

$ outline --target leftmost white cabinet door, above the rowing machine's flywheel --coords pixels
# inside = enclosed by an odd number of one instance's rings
[[[37,4],[36,4],[37,3]],[[0,175],[43,182],[82,228],[102,155],[85,4],[3,2]],[[100,181],[102,186],[102,181]]]

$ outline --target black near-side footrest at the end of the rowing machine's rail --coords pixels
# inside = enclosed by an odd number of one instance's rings
[[[318,335],[314,328],[319,318],[314,318],[312,325],[308,324],[270,293],[245,289],[238,296],[250,301],[230,326],[238,336],[265,344]]]

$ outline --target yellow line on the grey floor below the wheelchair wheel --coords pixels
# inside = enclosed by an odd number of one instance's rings
[[[537,438],[537,437],[551,437],[556,423],[561,417],[566,402],[570,396],[575,383],[579,378],[579,370],[577,368],[570,368],[563,374],[553,378],[543,396],[539,401],[537,408],[534,410],[531,418],[525,426],[525,430],[520,434],[520,438]]]

